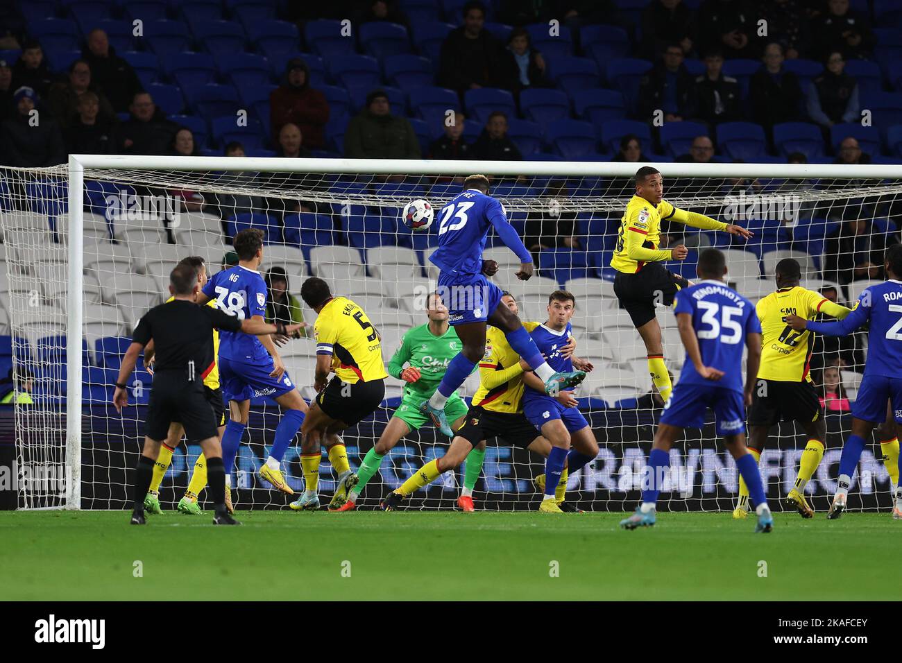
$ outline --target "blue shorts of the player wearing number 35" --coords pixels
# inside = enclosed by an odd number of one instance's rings
[[[717,435],[745,432],[742,392],[715,385],[677,384],[664,404],[661,423],[679,428],[702,428],[708,408],[714,410]]]

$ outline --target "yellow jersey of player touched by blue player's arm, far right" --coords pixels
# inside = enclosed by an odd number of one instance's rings
[[[808,364],[815,339],[807,329],[794,331],[786,323],[790,313],[813,320],[825,303],[824,295],[800,286],[783,288],[759,299],[755,310],[761,321],[762,348],[758,377],[779,382],[811,382]]]

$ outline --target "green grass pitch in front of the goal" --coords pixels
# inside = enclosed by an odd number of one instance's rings
[[[661,513],[654,528],[624,531],[620,513],[244,511],[243,527],[216,528],[209,511],[146,527],[124,511],[0,511],[0,597],[897,599],[902,522],[775,516],[756,535],[729,513]]]

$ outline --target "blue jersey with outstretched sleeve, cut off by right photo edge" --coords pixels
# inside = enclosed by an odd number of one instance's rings
[[[902,377],[902,281],[865,288],[851,313],[836,322],[809,322],[808,329],[826,336],[847,336],[870,322],[865,375]]]

